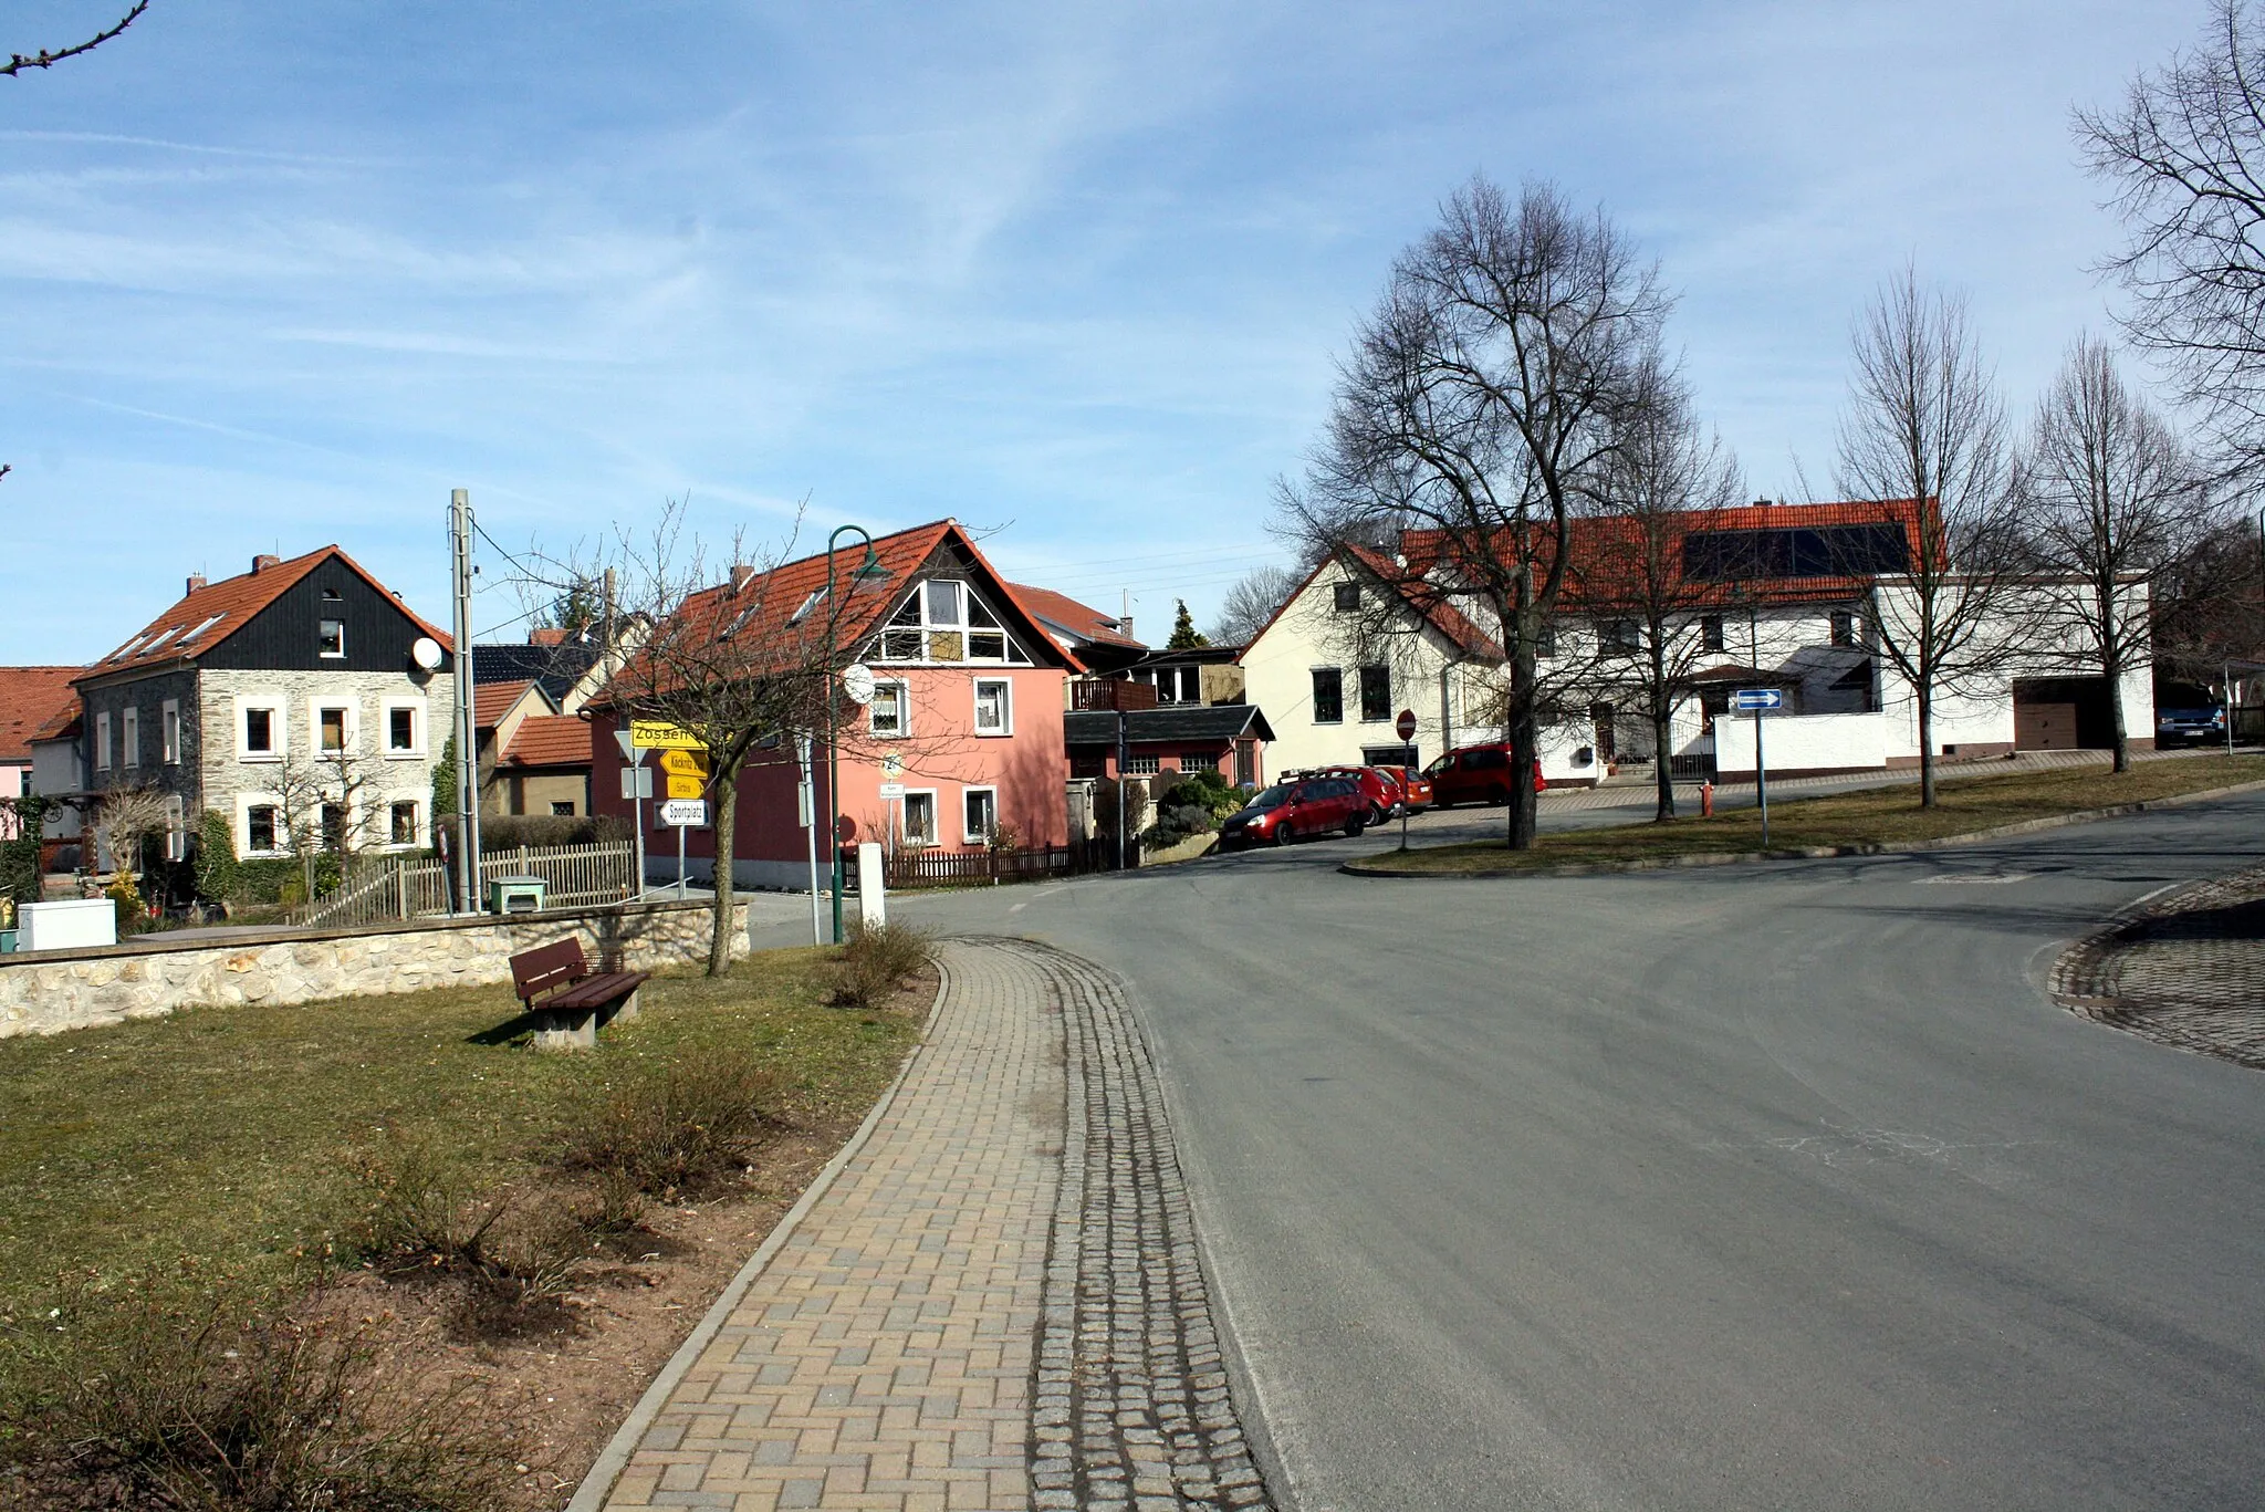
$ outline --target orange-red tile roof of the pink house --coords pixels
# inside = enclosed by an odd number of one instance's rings
[[[879,630],[881,617],[904,598],[904,589],[945,544],[967,553],[976,569],[997,585],[999,596],[1006,601],[1003,608],[1010,608],[1022,626],[1037,637],[1037,644],[1026,646],[1033,657],[1051,653],[1069,664],[1071,671],[1083,669],[1076,653],[1062,651],[1051,635],[1044,635],[1022,589],[992,569],[983,553],[976,551],[974,540],[956,521],[940,519],[913,530],[874,537],[874,560],[888,574],[879,589],[858,589],[852,583],[865,564],[865,546],[858,542],[843,546],[831,558],[818,553],[781,562],[770,571],[747,574],[741,583],[718,583],[686,596],[682,608],[666,623],[655,626],[627,666],[614,676],[614,687],[666,685],[668,673],[657,664],[668,655],[668,646],[713,646],[738,637],[750,639],[757,648],[754,655],[763,662],[761,666],[750,666],[750,676],[754,671],[786,671],[795,664],[822,662],[829,628],[836,639],[836,660],[840,660],[858,642]],[[834,562],[834,583],[840,592],[840,612],[831,617],[831,623],[824,603],[829,560]],[[605,694],[600,694],[602,700]]]

